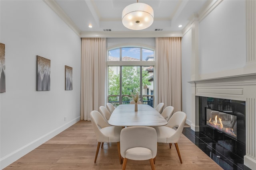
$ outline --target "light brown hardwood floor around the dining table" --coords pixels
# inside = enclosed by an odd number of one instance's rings
[[[183,134],[178,142],[182,164],[175,146],[158,144],[156,170],[222,170]],[[104,143],[96,163],[97,141],[90,121],[79,121],[4,170],[121,170],[116,143]],[[150,161],[128,160],[126,170],[150,170]]]

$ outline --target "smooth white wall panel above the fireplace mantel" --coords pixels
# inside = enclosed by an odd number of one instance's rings
[[[199,23],[199,74],[244,67],[245,9],[244,0],[224,0]]]

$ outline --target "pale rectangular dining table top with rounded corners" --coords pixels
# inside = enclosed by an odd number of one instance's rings
[[[138,111],[134,111],[134,104],[122,104],[114,109],[108,120],[113,126],[164,126],[167,121],[153,107],[138,104]]]

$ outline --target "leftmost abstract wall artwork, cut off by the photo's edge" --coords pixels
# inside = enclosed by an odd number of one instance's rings
[[[0,93],[5,92],[5,44],[0,43]]]

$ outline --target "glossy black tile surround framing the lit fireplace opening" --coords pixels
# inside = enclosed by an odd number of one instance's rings
[[[206,109],[227,113],[236,117],[237,139],[223,131],[206,125]],[[244,157],[245,150],[245,102],[220,98],[199,97],[199,131],[218,142],[234,154]]]

